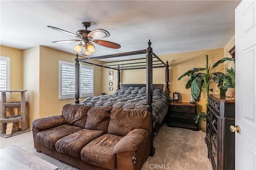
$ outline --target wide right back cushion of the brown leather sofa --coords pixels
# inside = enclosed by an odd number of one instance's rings
[[[125,136],[135,128],[143,128],[151,133],[151,113],[142,109],[113,107],[110,113],[108,133]]]

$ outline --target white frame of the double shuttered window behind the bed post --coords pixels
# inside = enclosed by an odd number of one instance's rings
[[[66,99],[74,99],[75,98],[75,92],[74,94],[70,94],[70,95],[63,95],[62,94],[62,65],[68,65],[70,67],[74,67],[75,68],[75,63],[71,63],[68,61],[61,61],[59,60],[59,94],[58,94],[58,98],[59,100],[66,100]],[[82,76],[82,69],[92,69],[92,93],[86,94],[86,93],[82,93],[81,91],[81,76]],[[74,79],[75,79],[75,75],[74,75]],[[89,97],[89,96],[93,96],[94,95],[94,67],[90,67],[87,65],[81,65],[80,64],[80,97]]]

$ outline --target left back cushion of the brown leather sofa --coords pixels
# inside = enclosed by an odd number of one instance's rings
[[[67,125],[84,128],[89,109],[90,106],[87,105],[68,104],[62,108],[62,115]]]

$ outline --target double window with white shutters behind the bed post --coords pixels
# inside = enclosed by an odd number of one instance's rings
[[[94,67],[80,65],[80,97],[94,95]],[[75,97],[75,64],[59,61],[59,99]]]

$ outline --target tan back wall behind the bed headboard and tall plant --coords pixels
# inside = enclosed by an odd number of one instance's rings
[[[195,67],[204,67],[206,64],[205,55],[208,55],[209,65],[213,65],[219,59],[224,57],[224,49],[209,49],[203,51],[192,51],[187,53],[176,53],[168,55],[159,55],[162,61],[168,61],[169,63],[169,96],[172,97],[172,93],[180,93],[180,101],[189,102],[191,97],[191,89],[186,89],[186,83],[190,77],[183,77],[178,81],[178,77]],[[223,72],[224,64],[218,65],[212,71]],[[110,69],[102,69],[102,91],[106,94],[113,94],[116,91],[117,87],[117,71],[114,70],[114,80],[113,91],[109,91],[108,83],[108,71]],[[121,71],[121,84],[145,84],[146,83],[146,69],[137,69],[137,70],[124,70]],[[153,69],[153,84],[165,84],[165,68]],[[213,81],[210,83],[210,89],[213,88],[212,94],[219,94],[220,90],[217,87],[217,84]],[[164,89],[164,88],[163,88]],[[204,111],[204,85],[201,93],[201,98],[198,103],[198,111]]]

